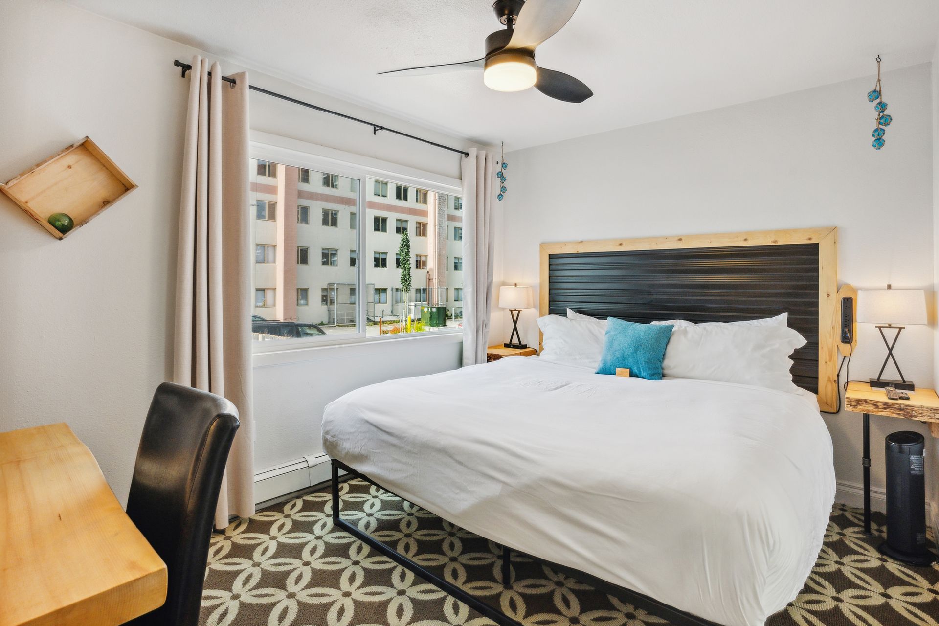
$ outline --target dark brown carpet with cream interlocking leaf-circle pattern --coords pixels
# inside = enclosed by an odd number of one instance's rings
[[[667,624],[613,596],[513,557],[501,585],[494,543],[363,481],[342,485],[343,517],[446,575],[527,626]],[[910,568],[876,550],[861,512],[836,505],[815,569],[795,602],[767,626],[939,624],[939,568]],[[202,615],[206,626],[479,626],[492,623],[377,556],[331,522],[329,490],[258,512],[212,536]]]

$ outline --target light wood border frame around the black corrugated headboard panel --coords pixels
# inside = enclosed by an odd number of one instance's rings
[[[817,243],[819,255],[818,402],[822,410],[834,411],[838,407],[838,228],[835,227],[724,233],[719,235],[683,235],[677,237],[641,237],[635,239],[543,243],[541,244],[539,314],[546,315],[549,313],[548,267],[552,254],[729,248],[807,243]],[[539,334],[540,343],[541,336]]]

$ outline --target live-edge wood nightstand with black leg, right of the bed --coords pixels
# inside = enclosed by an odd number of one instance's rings
[[[925,421],[930,434],[939,437],[939,396],[933,389],[908,391],[909,400],[889,400],[884,389],[870,389],[868,383],[848,383],[844,408],[864,415],[864,532],[870,534],[870,414],[903,420]]]

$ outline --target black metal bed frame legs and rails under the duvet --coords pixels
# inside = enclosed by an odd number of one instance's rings
[[[392,494],[393,496],[399,497],[402,500],[406,498],[398,496],[393,491],[383,487],[382,485],[378,484],[376,481],[373,481],[369,477],[362,474],[362,472],[359,472],[353,469],[352,467],[347,466],[345,463],[341,461],[332,459],[331,463],[332,463],[332,485],[331,485],[332,486],[332,523],[335,526],[346,530],[346,532],[348,532],[350,535],[352,535],[356,539],[362,542],[365,542],[372,548],[375,548],[379,553],[381,553],[385,557],[389,557],[398,565],[408,568],[408,570],[410,570],[413,573],[416,573],[418,576],[423,578],[425,581],[427,581],[431,585],[435,586],[436,588],[439,588],[441,591],[445,593],[450,594],[461,603],[467,604],[469,608],[473,609],[474,611],[477,611],[478,613],[481,613],[486,618],[492,619],[497,624],[500,624],[500,626],[523,626],[520,622],[505,615],[499,609],[492,606],[491,604],[485,603],[482,600],[469,595],[469,593],[467,593],[462,588],[457,587],[456,585],[442,578],[438,574],[433,573],[430,570],[427,570],[423,566],[419,565],[417,562],[411,560],[408,557],[405,557],[400,552],[394,550],[391,546],[385,543],[379,542],[374,537],[368,535],[367,533],[363,532],[359,528],[346,522],[346,520],[344,520],[341,516],[342,511],[340,510],[340,506],[339,506],[340,504],[339,470],[341,469],[345,470],[349,475],[354,476],[356,478],[360,478],[362,479],[362,481],[369,482],[375,485],[378,489],[381,489],[382,491]],[[633,591],[632,589],[627,589],[624,587],[620,587],[618,585],[613,585],[612,583],[608,583],[607,581],[601,578],[597,578],[593,574],[580,572],[579,570],[575,570],[574,568],[569,568],[569,567],[560,565],[558,563],[553,563],[544,558],[535,557],[533,555],[525,554],[517,550],[516,552],[518,552],[518,554],[520,555],[529,557],[532,560],[542,563],[550,567],[553,570],[561,572],[572,578],[576,578],[580,582],[587,583],[593,588],[603,591],[604,593],[608,593],[609,595],[614,595],[614,596],[624,598],[625,600],[627,600],[629,603],[633,604],[634,606],[644,611],[648,611],[649,613],[652,613],[654,616],[658,618],[668,619],[670,624],[673,624],[674,626],[719,626],[719,624],[716,624],[713,621],[700,618],[696,615],[692,615],[691,613],[688,613],[681,609],[677,609],[674,606],[670,606],[669,604],[659,602],[658,600],[655,600],[654,598],[650,596],[639,593],[638,591]],[[511,583],[512,581],[511,554],[512,554],[512,549],[503,545],[502,546],[502,585],[505,586],[506,588],[509,588],[512,584]]]

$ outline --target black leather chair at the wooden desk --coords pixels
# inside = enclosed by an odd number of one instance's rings
[[[213,393],[163,383],[153,394],[127,514],[166,563],[168,584],[166,603],[129,623],[198,623],[208,539],[238,428],[238,409]]]

